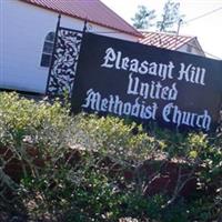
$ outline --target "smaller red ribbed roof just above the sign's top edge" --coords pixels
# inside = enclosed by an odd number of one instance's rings
[[[140,43],[170,50],[176,50],[195,39],[195,37],[175,36],[161,32],[142,32],[142,34],[143,38],[139,40]]]

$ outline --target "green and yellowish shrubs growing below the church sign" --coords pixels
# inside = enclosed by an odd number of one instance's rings
[[[216,220],[221,144],[220,133],[158,127],[144,132],[114,117],[70,117],[57,100],[51,104],[1,93],[0,221],[9,221],[2,218],[6,212],[22,221]],[[16,176],[9,171],[14,163],[21,165]],[[169,164],[178,169],[175,185],[149,193],[154,181],[171,173]],[[193,179],[198,190],[183,196]]]

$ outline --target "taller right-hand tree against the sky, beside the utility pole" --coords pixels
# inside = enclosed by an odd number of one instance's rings
[[[157,22],[159,31],[168,31],[173,24],[178,23],[184,16],[180,14],[180,3],[168,0],[163,7],[161,21]]]

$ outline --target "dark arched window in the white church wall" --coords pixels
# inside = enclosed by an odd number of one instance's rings
[[[54,32],[49,32],[44,39],[44,46],[41,57],[41,67],[49,67],[54,44]]]

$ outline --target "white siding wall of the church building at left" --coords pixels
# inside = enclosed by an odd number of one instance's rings
[[[44,93],[49,68],[40,67],[40,60],[47,33],[56,30],[58,13],[18,0],[0,0],[0,88]],[[83,21],[62,16],[61,26],[82,30]],[[130,34],[90,27],[92,32],[137,41]]]

